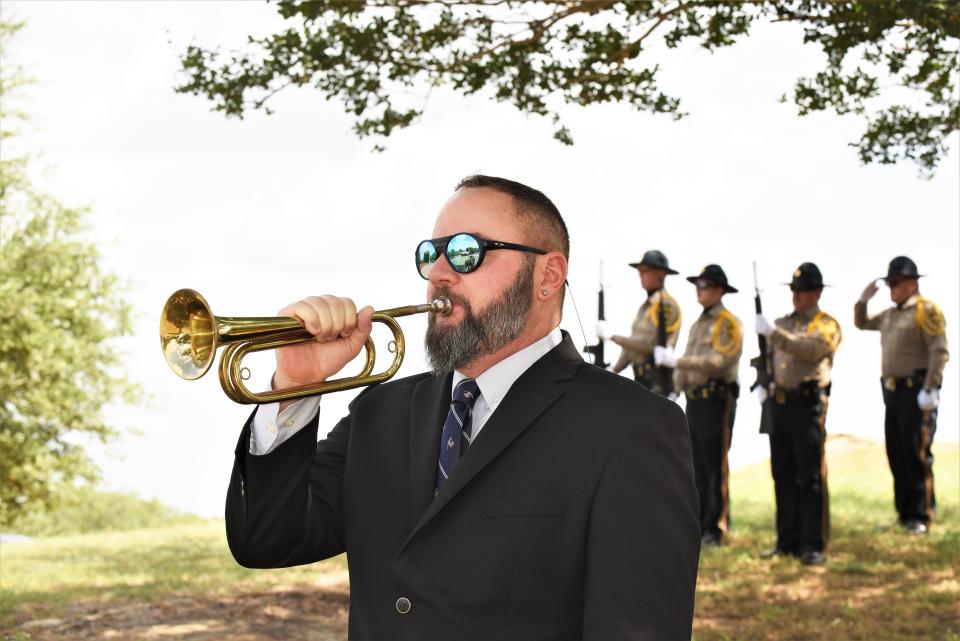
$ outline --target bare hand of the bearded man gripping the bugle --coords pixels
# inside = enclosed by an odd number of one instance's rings
[[[327,380],[360,353],[373,327],[372,307],[357,312],[352,300],[337,296],[310,296],[277,315],[299,319],[315,340],[276,350],[275,389]]]

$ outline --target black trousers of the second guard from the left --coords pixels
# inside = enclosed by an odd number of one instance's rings
[[[721,539],[730,529],[727,452],[736,411],[733,394],[710,399],[687,398],[687,424],[700,497],[700,532]]]

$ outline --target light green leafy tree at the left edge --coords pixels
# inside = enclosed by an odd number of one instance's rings
[[[0,23],[6,43],[19,25]],[[0,73],[2,140],[20,120],[7,110],[23,84],[6,52]],[[136,388],[118,373],[114,337],[129,333],[130,308],[118,279],[99,266],[85,239],[86,211],[38,193],[27,159],[0,159],[0,525],[56,502],[63,484],[93,480],[76,441],[116,434],[101,417]]]

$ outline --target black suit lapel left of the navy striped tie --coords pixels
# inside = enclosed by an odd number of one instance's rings
[[[437,484],[440,434],[450,406],[453,374],[429,376],[413,390],[410,404],[410,522],[416,525]]]

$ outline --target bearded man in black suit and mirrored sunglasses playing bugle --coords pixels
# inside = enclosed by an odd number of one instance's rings
[[[248,567],[347,553],[352,639],[689,639],[700,547],[676,404],[583,362],[559,329],[569,240],[541,192],[462,181],[416,249],[433,372],[369,387],[317,442],[314,397],[243,428],[227,535]],[[370,307],[281,312],[312,343],[274,386],[332,377]]]

